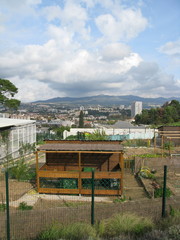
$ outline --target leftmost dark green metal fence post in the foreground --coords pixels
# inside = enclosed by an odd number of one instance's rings
[[[8,171],[5,172],[6,179],[6,233],[7,240],[10,240],[10,216],[9,216],[9,176]]]

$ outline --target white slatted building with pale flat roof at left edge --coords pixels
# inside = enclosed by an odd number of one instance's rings
[[[35,142],[35,121],[0,118],[0,163],[8,157],[17,158],[22,145],[33,145]]]

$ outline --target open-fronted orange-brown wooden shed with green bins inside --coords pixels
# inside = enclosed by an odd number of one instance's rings
[[[120,141],[46,141],[36,152],[39,193],[122,195],[123,147]],[[39,155],[45,164],[39,168]]]

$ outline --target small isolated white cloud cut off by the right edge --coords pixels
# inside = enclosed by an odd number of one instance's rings
[[[159,51],[169,56],[180,56],[180,40],[175,42],[167,42],[159,48]]]

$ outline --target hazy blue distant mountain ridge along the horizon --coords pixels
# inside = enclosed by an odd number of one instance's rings
[[[34,103],[59,103],[59,104],[73,104],[73,105],[102,105],[102,106],[112,106],[112,105],[130,105],[134,101],[141,101],[143,102],[144,107],[149,105],[163,105],[165,102],[169,102],[171,100],[178,100],[180,98],[171,97],[171,98],[142,98],[133,95],[125,95],[125,96],[110,96],[110,95],[97,95],[97,96],[90,96],[90,97],[79,97],[79,98],[72,98],[72,97],[57,97],[48,100],[39,100]]]

